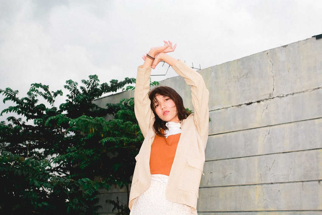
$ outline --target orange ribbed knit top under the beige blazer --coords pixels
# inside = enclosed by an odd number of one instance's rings
[[[151,174],[170,175],[180,136],[181,133],[169,135],[167,138],[156,135],[151,145]]]

